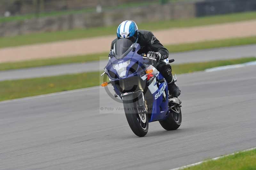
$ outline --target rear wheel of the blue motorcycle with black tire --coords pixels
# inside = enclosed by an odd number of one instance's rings
[[[181,109],[177,105],[170,109],[169,117],[165,120],[160,120],[159,123],[165,130],[176,130],[180,127],[181,120]]]

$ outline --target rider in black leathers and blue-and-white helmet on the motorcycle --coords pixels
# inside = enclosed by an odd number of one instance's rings
[[[173,81],[172,67],[164,62],[169,56],[169,51],[156,39],[152,32],[138,30],[136,23],[132,20],[122,22],[117,28],[117,38],[112,41],[111,50],[115,42],[120,38],[127,38],[133,43],[139,43],[141,49],[139,54],[147,53],[150,58],[156,59],[156,69],[164,76],[168,83],[169,92],[173,97],[180,96],[180,89]]]

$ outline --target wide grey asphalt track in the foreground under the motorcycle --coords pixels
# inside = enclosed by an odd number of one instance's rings
[[[101,87],[0,102],[0,169],[168,170],[256,146],[255,66],[178,80],[180,128],[145,137]]]

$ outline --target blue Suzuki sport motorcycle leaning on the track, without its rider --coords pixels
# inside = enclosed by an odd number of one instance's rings
[[[176,130],[181,124],[181,100],[169,94],[167,82],[156,70],[156,60],[138,54],[140,44],[121,38],[114,44],[109,61],[102,75],[109,82],[124,104],[126,119],[133,133],[145,136],[148,123],[159,121],[166,130]],[[173,62],[174,59],[165,62]],[[177,81],[175,76],[174,81]]]

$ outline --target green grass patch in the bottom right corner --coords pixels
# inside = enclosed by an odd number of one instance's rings
[[[184,170],[255,170],[256,150],[239,152],[217,160],[209,160]]]

